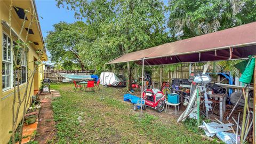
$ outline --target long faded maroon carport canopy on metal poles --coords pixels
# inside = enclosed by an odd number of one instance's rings
[[[127,53],[106,64],[135,61],[141,65],[232,60],[256,55],[256,22]]]

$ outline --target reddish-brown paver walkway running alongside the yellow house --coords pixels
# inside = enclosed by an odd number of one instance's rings
[[[41,99],[41,109],[38,116],[38,126],[35,141],[38,143],[46,143],[54,138],[55,122],[53,121],[52,98],[61,97],[59,91],[52,90],[51,93],[42,93],[39,95]]]

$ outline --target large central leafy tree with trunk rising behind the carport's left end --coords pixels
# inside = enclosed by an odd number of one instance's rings
[[[91,65],[101,69],[103,63],[125,53],[146,49],[169,41],[164,32],[162,1],[67,1],[57,0],[58,6],[71,6],[76,17],[84,18],[98,37],[85,42],[83,54]],[[85,53],[85,51],[83,51]],[[127,62],[128,79],[133,64]],[[122,64],[119,66],[123,66]],[[102,69],[101,69],[102,70]],[[129,83],[127,84],[129,85]]]

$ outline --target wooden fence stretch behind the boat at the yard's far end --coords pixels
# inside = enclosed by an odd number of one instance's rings
[[[44,78],[50,78],[53,82],[62,82],[62,77],[58,73],[75,74],[75,75],[91,75],[94,70],[44,70]]]

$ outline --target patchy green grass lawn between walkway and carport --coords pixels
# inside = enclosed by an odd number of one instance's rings
[[[140,119],[139,110],[123,101],[125,89],[107,87],[102,93],[73,92],[73,84],[51,88],[62,96],[52,103],[57,122],[54,143],[213,143],[164,112],[148,108]]]

